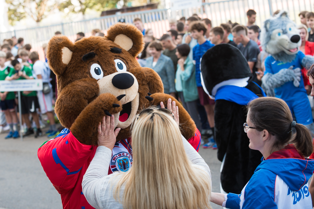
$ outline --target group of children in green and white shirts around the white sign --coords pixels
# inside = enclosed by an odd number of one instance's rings
[[[58,34],[58,33],[57,33]],[[60,33],[59,33],[60,34]],[[46,44],[43,45],[44,51]],[[5,39],[0,51],[0,80],[42,79],[42,91],[23,91],[21,93],[21,118],[23,136],[43,135],[41,128],[46,120],[50,127],[46,135],[51,138],[59,132],[56,127],[54,94],[56,93],[55,75],[50,70],[47,60],[39,59],[39,54],[31,50],[30,44],[24,44],[23,38]],[[53,85],[52,85],[53,84]],[[19,138],[18,99],[16,92],[1,92],[0,129],[9,130],[5,139]],[[46,117],[43,117],[46,114]]]

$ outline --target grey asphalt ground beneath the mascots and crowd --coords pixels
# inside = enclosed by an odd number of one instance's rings
[[[46,129],[43,129],[43,132]],[[34,135],[20,139],[4,137],[0,134],[0,209],[61,209],[59,193],[52,186],[37,157],[37,149],[48,138]],[[217,150],[199,149],[212,173],[214,192],[219,192],[219,170]],[[214,209],[221,206],[212,203]]]

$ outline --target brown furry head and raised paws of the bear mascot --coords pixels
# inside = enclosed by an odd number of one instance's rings
[[[66,36],[54,36],[49,41],[47,59],[58,88],[55,112],[81,143],[97,145],[97,125],[105,115],[114,115],[115,127],[121,128],[117,141],[130,137],[135,116],[161,101],[167,104],[169,98],[179,107],[182,135],[194,135],[194,121],[175,98],[163,93],[159,75],[138,64],[143,46],[142,33],[125,23],[111,26],[105,37],[72,43]]]

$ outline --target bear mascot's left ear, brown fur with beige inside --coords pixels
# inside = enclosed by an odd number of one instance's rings
[[[48,64],[56,75],[61,75],[69,64],[74,44],[66,36],[54,36],[47,47]]]

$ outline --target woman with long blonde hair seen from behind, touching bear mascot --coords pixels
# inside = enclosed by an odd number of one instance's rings
[[[131,129],[133,164],[128,172],[108,175],[119,129],[114,130],[114,116],[106,116],[99,124],[98,148],[82,182],[91,206],[211,208],[209,167],[181,135],[178,107],[172,108],[172,112],[164,109],[163,104],[161,107],[143,110],[135,117]]]

